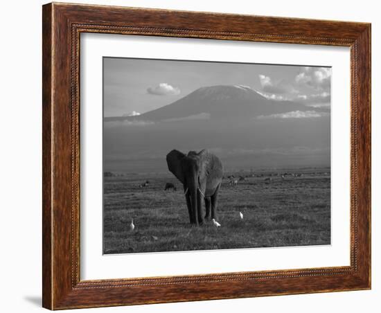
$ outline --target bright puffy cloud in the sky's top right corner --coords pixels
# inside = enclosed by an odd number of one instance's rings
[[[304,66],[301,73],[296,75],[296,84],[305,84],[314,89],[328,89],[330,87],[331,69],[329,67]]]

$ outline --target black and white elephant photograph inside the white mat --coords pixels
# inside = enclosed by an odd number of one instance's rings
[[[103,254],[331,244],[331,75],[103,57]]]

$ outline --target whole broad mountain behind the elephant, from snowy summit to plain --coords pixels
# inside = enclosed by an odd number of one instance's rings
[[[316,111],[245,86],[203,87],[139,116],[105,118],[104,170],[168,173],[170,150],[205,148],[227,170],[329,166],[330,116]]]

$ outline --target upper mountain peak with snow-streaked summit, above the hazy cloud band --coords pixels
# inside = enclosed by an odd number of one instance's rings
[[[314,111],[320,110],[314,108]],[[311,107],[292,101],[269,100],[247,86],[218,85],[199,88],[170,105],[148,111],[139,116],[109,117],[105,118],[105,121],[160,121],[181,118],[247,120],[257,116],[283,114],[290,111],[311,111]]]

